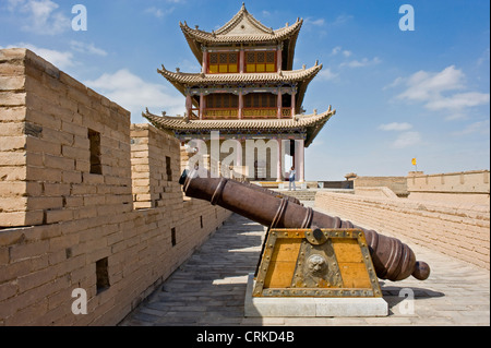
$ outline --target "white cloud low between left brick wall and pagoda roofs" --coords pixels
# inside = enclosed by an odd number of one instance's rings
[[[182,115],[184,111],[183,97],[169,93],[166,86],[143,81],[128,69],[113,74],[103,74],[94,81],[84,82],[131,111],[133,118],[140,118],[145,108],[167,111],[168,115]]]

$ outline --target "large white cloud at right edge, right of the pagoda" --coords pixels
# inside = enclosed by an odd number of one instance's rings
[[[462,70],[451,65],[438,73],[419,71],[408,79],[399,77],[394,85],[406,85],[406,91],[397,96],[405,101],[423,103],[432,111],[446,111],[447,119],[465,117],[466,108],[489,104],[490,94],[465,92],[466,76]],[[459,92],[459,93],[457,93]]]

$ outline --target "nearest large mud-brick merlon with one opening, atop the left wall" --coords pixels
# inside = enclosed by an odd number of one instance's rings
[[[131,211],[130,113],[28,50],[0,61],[0,227]]]

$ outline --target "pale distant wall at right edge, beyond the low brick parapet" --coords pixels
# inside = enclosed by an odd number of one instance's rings
[[[455,203],[489,204],[489,170],[424,175],[410,172],[409,199]]]

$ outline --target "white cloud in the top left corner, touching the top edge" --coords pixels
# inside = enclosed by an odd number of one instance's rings
[[[71,27],[71,21],[58,11],[51,0],[9,0],[8,9],[22,15],[20,27],[24,32],[57,35]]]

